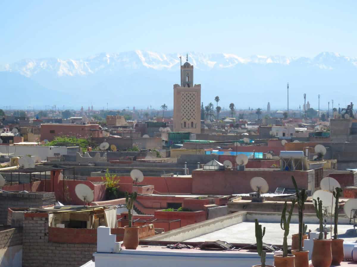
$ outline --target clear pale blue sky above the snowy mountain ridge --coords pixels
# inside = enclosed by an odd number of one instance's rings
[[[356,1],[1,1],[0,64],[135,49],[357,57],[356,7]]]

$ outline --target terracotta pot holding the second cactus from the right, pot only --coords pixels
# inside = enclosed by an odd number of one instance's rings
[[[330,267],[332,263],[331,239],[314,239],[311,262],[314,267]]]

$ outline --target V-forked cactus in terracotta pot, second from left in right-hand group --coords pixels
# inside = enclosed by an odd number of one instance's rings
[[[285,201],[284,208],[281,213],[280,227],[284,230],[284,239],[283,239],[283,254],[282,255],[274,255],[274,265],[275,267],[294,267],[294,259],[295,256],[292,254],[288,254],[288,242],[287,238],[290,230],[290,220],[292,211],[294,209],[295,199],[292,200],[291,209],[288,211],[288,218],[286,218],[286,209],[287,203]]]

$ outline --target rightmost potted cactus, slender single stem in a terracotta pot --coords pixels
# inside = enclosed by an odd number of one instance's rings
[[[334,228],[333,228],[333,239],[331,243],[332,250],[332,264],[340,265],[341,261],[343,261],[344,252],[343,252],[343,239],[338,238],[337,234],[337,224],[338,224],[338,201],[340,200],[342,189],[340,187],[336,187],[332,192],[335,197],[335,219],[334,219]]]

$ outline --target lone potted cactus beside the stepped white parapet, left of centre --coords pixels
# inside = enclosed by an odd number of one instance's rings
[[[139,245],[139,227],[132,226],[132,209],[134,207],[134,202],[136,199],[137,193],[133,192],[129,194],[125,192],[125,204],[128,209],[128,217],[129,217],[129,226],[124,226],[124,240],[123,244],[126,249],[136,250]]]

